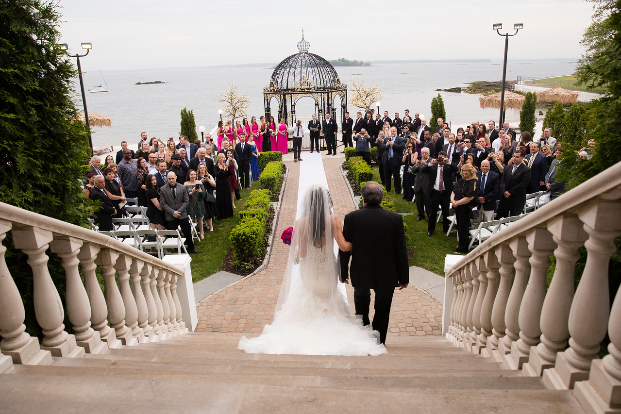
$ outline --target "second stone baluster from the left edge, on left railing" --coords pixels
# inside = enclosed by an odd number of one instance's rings
[[[53,240],[52,232],[34,227],[14,227],[13,245],[28,256],[32,268],[35,317],[43,332],[41,348],[53,356],[81,357],[84,349],[76,344],[74,335],[65,331],[65,311],[47,268],[45,251]]]

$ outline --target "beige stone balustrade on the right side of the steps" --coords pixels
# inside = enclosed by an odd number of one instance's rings
[[[451,319],[446,335],[505,369],[541,376],[550,389],[574,389],[587,412],[618,412],[621,289],[610,292],[608,269],[620,235],[621,163],[458,261],[447,257],[447,266],[454,264],[446,272],[445,292],[454,296],[445,313]],[[582,247],[587,259],[574,292]],[[555,268],[546,289],[551,256]],[[599,359],[606,334],[609,354]]]

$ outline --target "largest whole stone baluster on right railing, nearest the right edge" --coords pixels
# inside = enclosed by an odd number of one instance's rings
[[[589,379],[591,361],[598,358],[610,312],[608,264],[617,250],[615,237],[621,234],[619,211],[620,202],[600,200],[579,213],[589,234],[584,243],[587,259],[569,310],[569,348],[556,355],[553,369],[543,373],[550,388],[572,389],[576,381]]]

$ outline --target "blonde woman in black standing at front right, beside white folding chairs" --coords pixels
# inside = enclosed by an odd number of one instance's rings
[[[471,163],[465,163],[461,166],[461,178],[457,180],[455,189],[451,192],[451,204],[455,209],[457,235],[460,239],[455,253],[468,253],[470,212],[476,205],[475,198],[478,194],[479,182],[476,178],[476,170]]]

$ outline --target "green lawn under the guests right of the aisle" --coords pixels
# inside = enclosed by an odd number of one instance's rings
[[[377,166],[373,167],[373,181],[380,182]],[[433,236],[427,237],[427,220],[416,221],[416,204],[403,200],[402,195],[394,194],[394,189],[389,194],[397,212],[411,213],[403,217],[414,246],[414,258],[410,260],[410,266],[419,266],[444,276],[444,258],[446,254],[453,254],[458,244],[456,233],[446,237],[442,233],[442,219],[440,219],[440,223],[436,223]]]

